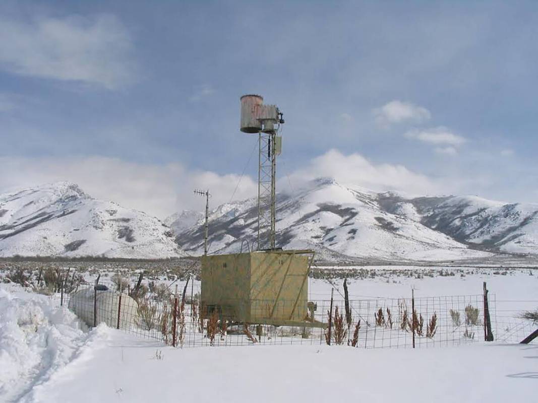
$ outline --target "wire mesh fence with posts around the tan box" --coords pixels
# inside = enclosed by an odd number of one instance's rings
[[[101,322],[176,347],[251,344],[343,344],[357,348],[427,348],[494,340],[517,343],[535,330],[520,319],[521,302],[483,294],[349,300],[227,300],[200,304],[168,286],[117,292],[94,286],[61,297],[89,327]],[[347,305],[347,307],[346,307]],[[498,310],[498,306],[501,309]],[[299,315],[299,316],[298,316]]]

